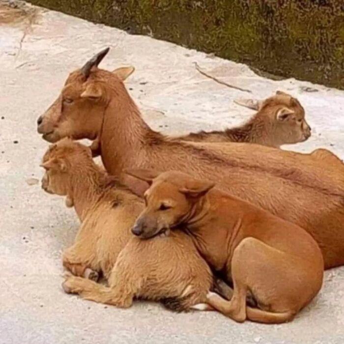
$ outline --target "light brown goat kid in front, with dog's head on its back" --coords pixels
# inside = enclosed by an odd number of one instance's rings
[[[143,200],[99,169],[86,146],[62,140],[46,152],[42,166],[42,187],[67,196],[81,221],[74,245],[63,253],[63,265],[76,275],[66,277],[66,292],[117,307],[131,306],[134,297],[159,300],[174,311],[206,301],[212,275],[192,240],[182,231],[134,237],[130,229]],[[100,272],[109,287],[95,282]]]

